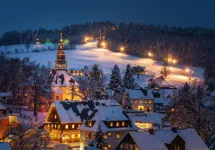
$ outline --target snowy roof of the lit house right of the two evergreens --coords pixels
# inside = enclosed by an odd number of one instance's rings
[[[153,99],[152,92],[145,89],[126,89],[131,99]]]

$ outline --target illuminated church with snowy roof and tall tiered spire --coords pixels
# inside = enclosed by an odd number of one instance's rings
[[[81,100],[78,83],[67,69],[66,53],[64,51],[61,33],[55,69],[51,70],[53,99],[56,100]]]

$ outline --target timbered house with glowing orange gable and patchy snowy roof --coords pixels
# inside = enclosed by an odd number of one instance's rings
[[[79,146],[80,130],[78,127],[89,116],[93,116],[94,110],[98,105],[106,106],[116,103],[112,100],[55,101],[51,105],[44,122],[45,130],[49,132],[53,141],[68,144],[76,142]]]

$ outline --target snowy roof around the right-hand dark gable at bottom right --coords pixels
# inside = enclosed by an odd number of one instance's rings
[[[162,143],[170,144],[174,138],[179,135],[185,141],[186,149],[192,150],[208,150],[207,145],[194,129],[178,130],[177,133],[172,130],[157,131],[154,134],[162,141]]]

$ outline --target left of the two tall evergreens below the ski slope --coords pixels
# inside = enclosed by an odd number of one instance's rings
[[[116,91],[121,86],[122,86],[122,83],[121,83],[120,69],[117,65],[114,65],[111,78],[110,78],[109,89]]]

